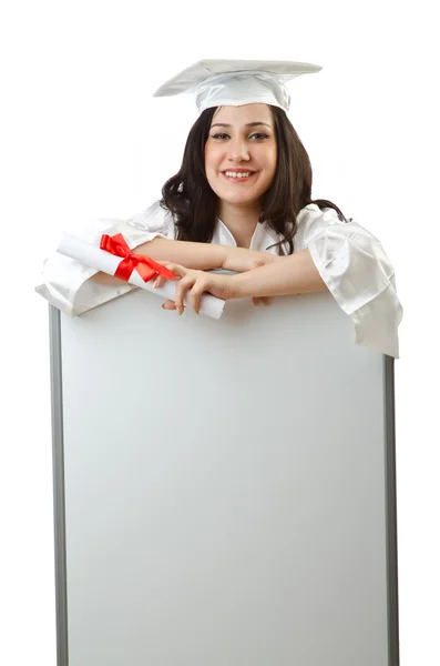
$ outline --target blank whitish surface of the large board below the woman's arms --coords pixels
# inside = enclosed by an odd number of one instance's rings
[[[388,666],[382,355],[160,303],[61,316],[69,666]]]

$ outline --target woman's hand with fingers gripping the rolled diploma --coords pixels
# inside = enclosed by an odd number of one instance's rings
[[[175,282],[176,290],[174,301],[166,301],[163,304],[165,310],[177,310],[178,314],[184,311],[184,297],[190,299],[190,304],[195,312],[201,309],[201,296],[207,292],[213,296],[228,301],[239,296],[234,275],[218,275],[216,273],[206,273],[195,269],[185,269],[178,264],[166,261],[158,262],[170,269],[177,275]],[[157,276],[154,283],[155,287],[162,286],[165,282],[164,278]]]

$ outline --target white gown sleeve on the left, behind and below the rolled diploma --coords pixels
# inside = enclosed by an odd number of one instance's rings
[[[131,220],[99,220],[82,232],[74,232],[74,235],[99,245],[103,233],[122,233],[133,250],[156,236],[173,239],[174,223],[172,215],[156,201]],[[95,273],[95,269],[54,252],[43,264],[41,283],[35,291],[65,314],[74,316],[136,289],[127,283],[94,282],[90,278]]]

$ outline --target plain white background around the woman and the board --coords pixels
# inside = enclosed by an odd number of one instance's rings
[[[160,196],[196,112],[191,97],[151,95],[201,58],[324,68],[290,85],[289,117],[314,167],[313,196],[367,226],[396,268],[405,307],[396,363],[401,665],[440,663],[433,6],[188,0],[149,11],[146,1],[18,0],[3,11],[1,664],[55,665],[48,306],[33,292],[40,266],[63,229],[126,219]]]

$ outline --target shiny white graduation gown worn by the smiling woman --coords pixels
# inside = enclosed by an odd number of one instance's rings
[[[378,239],[355,221],[341,222],[334,209],[321,211],[314,203],[298,213],[297,222],[295,250],[308,248],[329,292],[354,323],[355,342],[398,357],[402,307],[396,293],[393,268]],[[131,220],[100,220],[84,230],[81,238],[99,245],[103,233],[122,233],[133,249],[156,236],[174,239],[174,222],[156,201]],[[265,223],[257,224],[250,250],[276,253],[270,245],[278,240]],[[236,245],[221,220],[212,243]],[[78,315],[136,289],[89,280],[96,272],[55,252],[44,262],[42,284],[37,291],[62,312]]]

